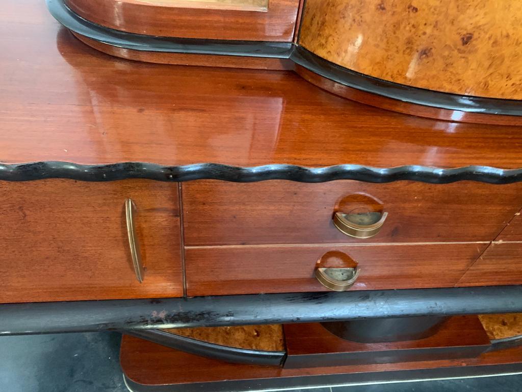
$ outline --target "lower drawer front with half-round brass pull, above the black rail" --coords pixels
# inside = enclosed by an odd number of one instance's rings
[[[316,280],[314,269],[332,250],[346,253],[361,269],[350,290],[452,287],[487,245],[185,248],[187,295],[328,291]]]

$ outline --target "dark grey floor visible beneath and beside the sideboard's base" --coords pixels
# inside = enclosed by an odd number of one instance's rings
[[[0,392],[124,392],[115,332],[0,337]],[[309,392],[522,392],[522,375],[306,389]]]

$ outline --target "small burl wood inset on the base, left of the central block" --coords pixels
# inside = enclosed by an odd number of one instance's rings
[[[209,343],[249,350],[284,351],[281,324],[164,329]]]

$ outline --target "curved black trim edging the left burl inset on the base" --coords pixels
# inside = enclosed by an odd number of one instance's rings
[[[127,335],[136,336],[154,343],[185,351],[195,355],[232,363],[246,363],[261,366],[281,366],[286,358],[284,351],[248,350],[237,347],[205,342],[175,335],[159,329],[121,331]]]

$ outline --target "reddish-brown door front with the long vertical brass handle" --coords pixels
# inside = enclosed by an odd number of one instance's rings
[[[178,186],[146,180],[0,183],[0,303],[183,295]],[[136,206],[139,283],[124,204]]]

